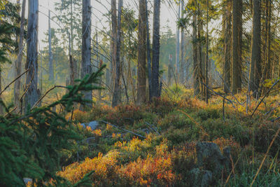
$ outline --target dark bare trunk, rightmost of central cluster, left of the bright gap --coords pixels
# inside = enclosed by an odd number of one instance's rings
[[[151,97],[160,97],[160,0],[153,4],[153,64]]]

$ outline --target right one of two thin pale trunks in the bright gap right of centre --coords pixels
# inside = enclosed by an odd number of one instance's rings
[[[184,8],[185,8],[185,5],[184,5],[184,1],[181,0],[181,19],[183,19],[183,15],[184,15]],[[184,34],[184,28],[181,27],[181,64],[180,64],[180,83],[183,84],[184,81],[185,81],[185,74],[184,74],[184,71],[185,71],[185,43],[184,43],[184,37],[185,37],[185,34]]]

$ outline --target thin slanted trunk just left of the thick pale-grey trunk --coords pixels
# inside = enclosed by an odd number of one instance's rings
[[[15,61],[15,77],[20,76],[21,70],[22,70],[22,52],[23,52],[23,40],[24,40],[24,34],[25,34],[25,6],[26,6],[26,0],[22,0],[22,15],[20,18],[20,41],[18,43],[18,57]],[[15,81],[14,85],[14,96],[15,96],[15,106],[17,108],[17,112],[20,111],[20,78],[18,78],[17,81]]]

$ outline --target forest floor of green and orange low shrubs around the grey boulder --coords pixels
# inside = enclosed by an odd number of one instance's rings
[[[211,141],[221,150],[231,147],[230,170],[212,186],[250,186],[257,173],[253,186],[280,186],[280,121],[274,120],[280,116],[280,97],[266,97],[253,116],[260,99],[251,99],[246,112],[246,94],[227,98],[232,104],[220,96],[206,104],[180,90],[143,106],[76,110],[73,121],[85,141],[63,153],[59,175],[75,183],[94,170],[94,186],[192,186],[195,145]],[[96,130],[80,125],[94,120]]]

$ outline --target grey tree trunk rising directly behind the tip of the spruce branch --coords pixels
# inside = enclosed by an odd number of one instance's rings
[[[91,6],[90,0],[83,0],[83,26],[82,26],[82,69],[81,78],[92,73],[91,67]],[[83,92],[84,99],[92,100],[92,91]],[[87,104],[91,106],[91,103]],[[84,107],[81,107],[83,109]]]

